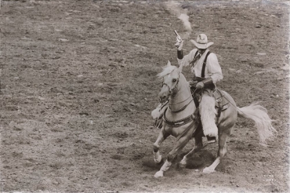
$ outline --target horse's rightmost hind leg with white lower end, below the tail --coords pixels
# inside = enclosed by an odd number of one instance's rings
[[[215,172],[215,168],[219,165],[220,160],[226,155],[226,140],[228,139],[228,134],[222,133],[218,141],[218,157],[213,161],[209,167],[205,167],[202,172],[212,173]]]

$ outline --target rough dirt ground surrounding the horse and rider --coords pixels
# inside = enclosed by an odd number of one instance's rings
[[[218,144],[155,179],[151,111],[175,34],[167,1],[1,1],[1,192],[288,192],[289,6],[283,1],[175,1],[189,39],[213,41],[239,107],[261,101],[278,134],[258,145],[238,119],[217,172]],[[193,49],[186,39],[184,52]],[[184,69],[187,79],[191,74]],[[164,158],[174,137],[161,147]]]

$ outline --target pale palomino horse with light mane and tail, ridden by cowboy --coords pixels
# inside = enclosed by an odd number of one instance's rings
[[[163,78],[162,89],[158,94],[160,101],[168,101],[168,108],[164,112],[163,124],[160,134],[153,145],[153,154],[155,163],[161,163],[162,156],[160,154],[161,143],[170,135],[177,138],[175,147],[167,155],[167,160],[162,165],[160,171],[156,172],[155,177],[163,176],[178,152],[184,148],[190,139],[195,139],[193,150],[186,154],[180,164],[186,165],[186,161],[195,152],[202,149],[202,136],[204,136],[198,116],[198,110],[195,111],[195,103],[191,95],[189,83],[182,74],[182,66],[177,68],[171,65],[168,61],[164,70],[157,74],[158,77]],[[229,101],[229,107],[223,110],[218,120],[218,157],[209,166],[204,168],[203,172],[211,173],[215,171],[215,167],[220,163],[220,159],[226,154],[226,140],[233,130],[235,121],[238,116],[251,119],[255,122],[255,127],[258,129],[260,142],[265,143],[265,140],[273,136],[276,130],[271,125],[271,119],[267,114],[267,110],[257,103],[249,106],[238,108],[235,105],[233,98],[226,92],[224,97]]]

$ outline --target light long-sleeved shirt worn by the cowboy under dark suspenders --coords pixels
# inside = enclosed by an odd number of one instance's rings
[[[178,65],[183,66],[190,65],[191,61],[193,61],[193,58],[195,56],[195,52],[197,52],[197,49],[191,50],[191,52],[189,52],[189,54],[184,56],[183,59],[177,59]],[[202,65],[204,63],[204,59],[206,57],[207,52],[209,52],[209,49],[206,49],[206,51],[202,54],[200,59],[193,65],[191,65],[191,72],[195,74],[195,77],[202,77]],[[218,63],[218,57],[214,53],[209,54],[206,60],[204,78],[207,79],[209,77],[213,79],[213,83],[217,83],[223,78],[222,68],[220,68],[220,64]]]

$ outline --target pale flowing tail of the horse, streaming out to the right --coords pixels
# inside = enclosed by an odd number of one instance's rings
[[[267,109],[258,105],[257,103],[252,103],[249,106],[243,108],[238,108],[238,116],[242,116],[246,119],[251,119],[255,122],[255,128],[258,129],[258,134],[260,136],[260,144],[266,145],[266,139],[273,136],[273,132],[277,133],[276,129],[273,128],[271,122],[274,121],[269,118],[267,114]]]

